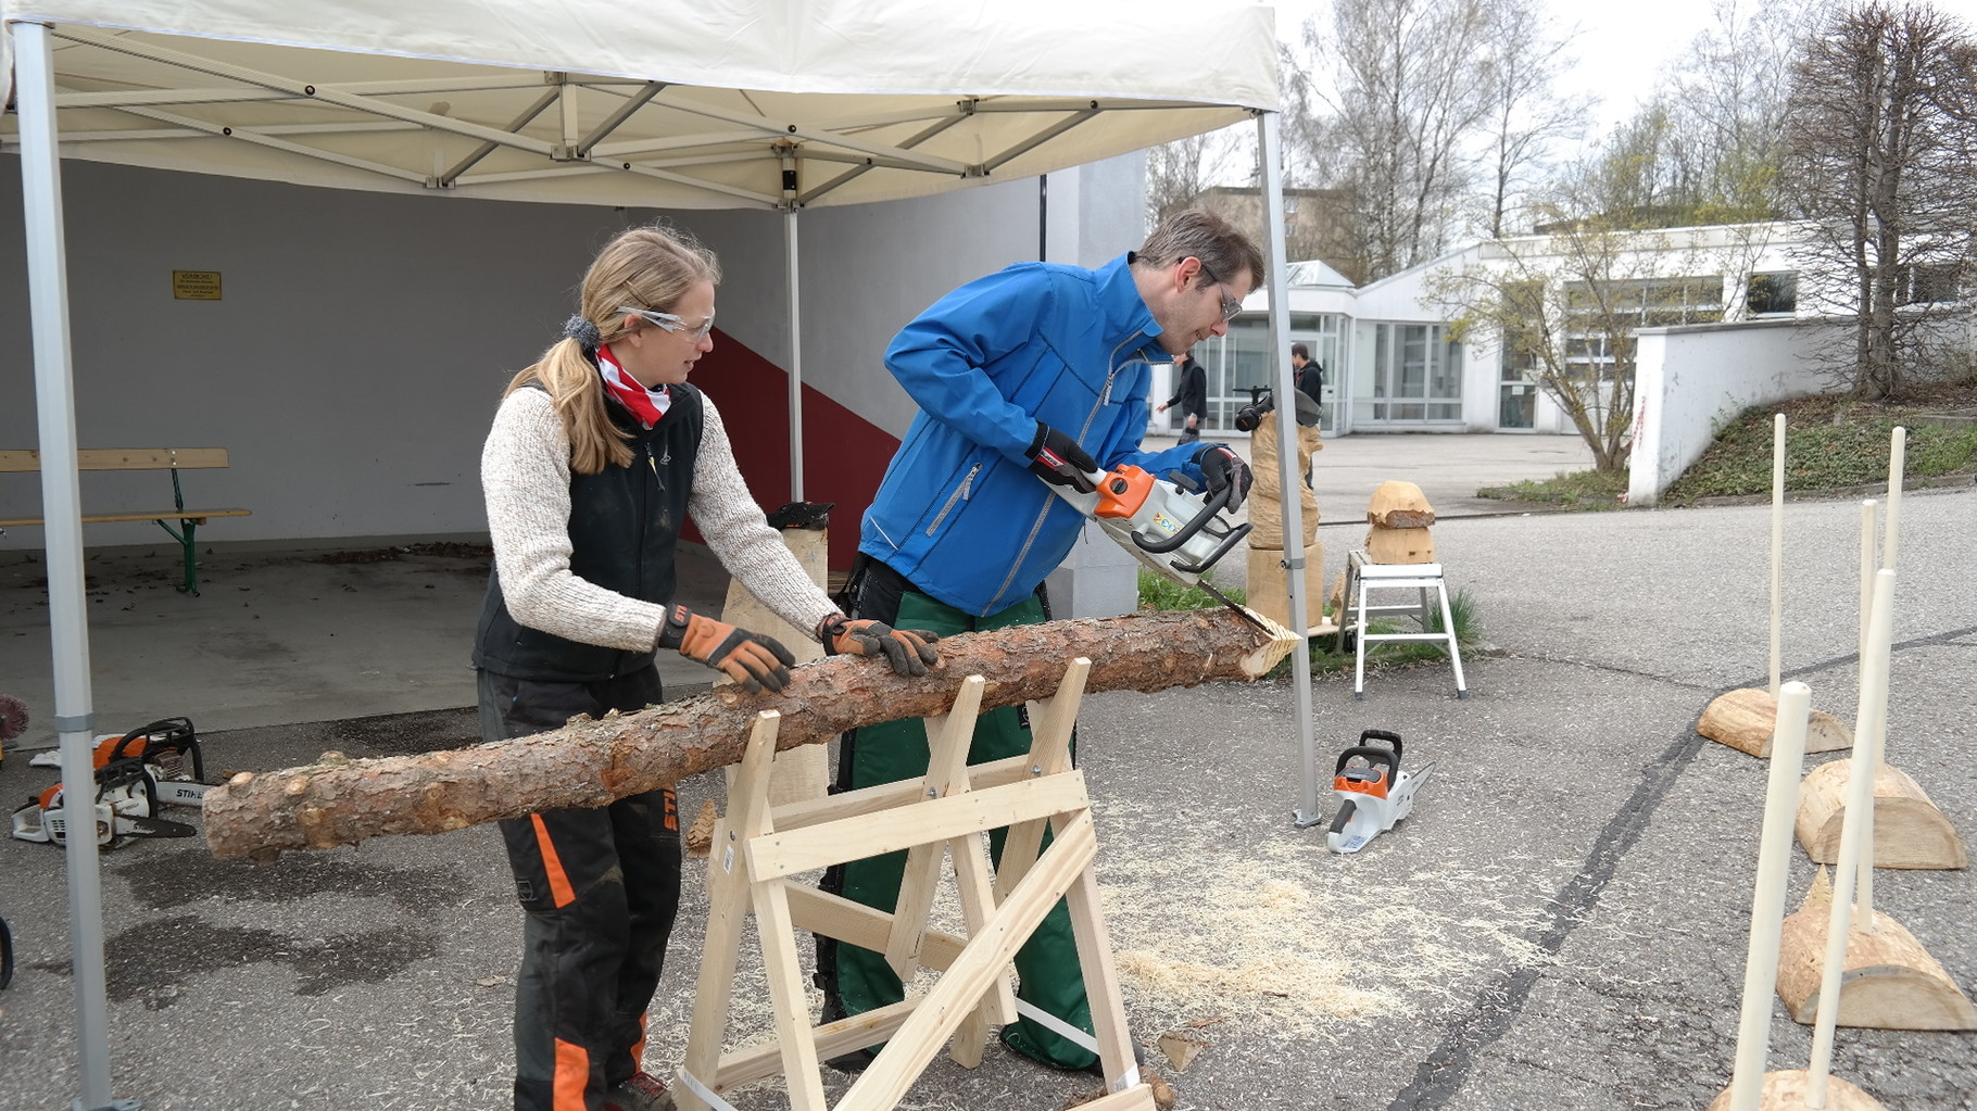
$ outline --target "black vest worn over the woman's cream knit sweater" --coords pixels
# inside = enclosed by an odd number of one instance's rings
[[[700,391],[674,385],[672,405],[652,429],[641,429],[609,399],[605,409],[619,429],[633,433],[633,459],[631,467],[569,474],[569,571],[607,591],[664,605],[672,601],[672,556],[700,455]],[[652,637],[658,637],[656,625]],[[500,573],[488,575],[474,635],[476,668],[514,678],[597,682],[650,664],[650,648],[633,652],[583,644],[522,627],[502,599]]]

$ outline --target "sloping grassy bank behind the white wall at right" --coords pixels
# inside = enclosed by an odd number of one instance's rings
[[[1744,409],[1688,470],[1663,504],[1771,492],[1771,417],[1785,413],[1785,490],[1831,490],[1888,480],[1888,441],[1908,427],[1904,474],[1934,478],[1977,470],[1977,427],[1914,425],[1920,409],[1870,405],[1847,397],[1801,397]]]

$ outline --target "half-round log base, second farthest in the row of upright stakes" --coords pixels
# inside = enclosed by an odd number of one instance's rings
[[[1845,759],[1823,763],[1799,783],[1799,844],[1819,864],[1839,860],[1848,765]],[[1969,864],[1963,838],[1922,787],[1906,771],[1880,765],[1874,773],[1874,868]]]

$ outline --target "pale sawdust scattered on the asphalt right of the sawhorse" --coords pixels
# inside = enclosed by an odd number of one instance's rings
[[[1115,807],[1097,803],[1101,816]],[[1504,884],[1514,864],[1501,876],[1370,864],[1332,856],[1323,830],[1188,854],[1101,826],[1105,919],[1129,1008],[1168,1026],[1228,1016],[1323,1038],[1346,1020],[1455,998],[1463,979],[1550,959],[1528,941],[1540,927],[1534,899],[1495,896],[1520,886]]]

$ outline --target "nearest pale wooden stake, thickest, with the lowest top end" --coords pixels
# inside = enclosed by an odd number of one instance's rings
[[[1758,840],[1758,886],[1750,899],[1750,951],[1744,959],[1730,1111],[1758,1111],[1763,1087],[1763,1058],[1771,1046],[1771,990],[1777,986],[1777,937],[1785,917],[1785,866],[1791,856],[1791,818],[1799,811],[1799,765],[1805,761],[1805,722],[1811,708],[1813,692],[1803,682],[1779,688],[1777,741],[1763,793],[1763,834]]]

